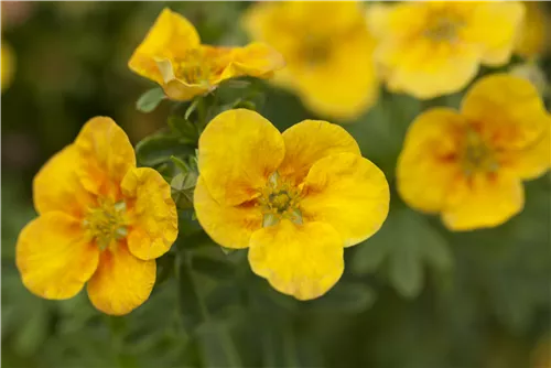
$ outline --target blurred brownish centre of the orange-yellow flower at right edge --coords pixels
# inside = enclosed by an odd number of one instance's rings
[[[484,141],[483,137],[474,131],[467,130],[463,144],[462,155],[463,171],[466,175],[474,172],[494,172],[498,169],[495,152]]]

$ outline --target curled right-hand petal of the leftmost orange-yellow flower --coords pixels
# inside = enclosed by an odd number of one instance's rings
[[[121,183],[131,218],[128,248],[142,260],[168,252],[177,237],[176,205],[169,183],[153,169],[130,170]]]

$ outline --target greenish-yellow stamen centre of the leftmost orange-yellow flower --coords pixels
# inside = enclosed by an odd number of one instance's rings
[[[100,249],[127,236],[126,209],[123,201],[114,203],[110,199],[99,199],[97,207],[88,209],[83,226]]]

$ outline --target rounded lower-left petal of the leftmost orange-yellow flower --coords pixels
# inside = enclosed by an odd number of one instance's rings
[[[51,212],[26,225],[18,239],[15,262],[23,284],[45,299],[75,296],[96,271],[99,249],[86,241],[82,224]]]

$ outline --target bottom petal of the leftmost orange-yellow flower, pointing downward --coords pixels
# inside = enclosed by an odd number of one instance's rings
[[[119,242],[101,252],[98,269],[88,282],[88,296],[104,313],[130,313],[148,300],[155,283],[155,272],[154,260],[138,259],[125,242]]]

